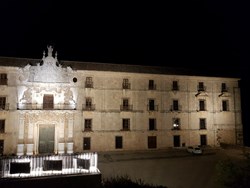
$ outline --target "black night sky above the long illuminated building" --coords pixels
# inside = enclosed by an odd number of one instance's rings
[[[42,58],[52,44],[59,60],[226,72],[246,93],[250,17],[241,1],[59,2],[2,2],[0,56]]]

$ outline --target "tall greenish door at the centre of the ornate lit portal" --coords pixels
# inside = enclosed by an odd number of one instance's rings
[[[40,154],[54,153],[55,143],[55,126],[40,125],[39,126],[39,148]]]

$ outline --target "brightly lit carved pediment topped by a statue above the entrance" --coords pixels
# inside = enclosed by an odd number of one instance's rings
[[[48,53],[43,52],[42,61],[36,66],[26,65],[21,69],[20,81],[41,82],[41,83],[68,83],[72,69],[63,68],[58,60],[57,53],[53,57],[53,47],[48,46]]]

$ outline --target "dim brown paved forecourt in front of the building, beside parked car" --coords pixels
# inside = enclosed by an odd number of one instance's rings
[[[244,159],[241,149],[207,148],[194,156],[185,149],[100,152],[103,178],[128,175],[168,188],[217,188],[215,166],[225,158]]]

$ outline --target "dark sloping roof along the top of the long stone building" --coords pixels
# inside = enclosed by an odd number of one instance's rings
[[[9,67],[25,67],[30,64],[35,66],[42,59],[20,58],[20,57],[4,57],[0,56],[0,66]],[[131,72],[131,73],[147,73],[147,74],[166,74],[166,75],[186,75],[186,76],[206,76],[206,77],[224,77],[238,78],[237,75],[226,75],[221,72],[206,70],[195,70],[180,67],[165,67],[165,66],[149,66],[149,65],[130,65],[130,64],[115,64],[102,62],[85,62],[85,61],[68,61],[61,60],[59,63],[63,67],[70,66],[73,70],[93,70],[93,71],[111,71],[111,72]]]

